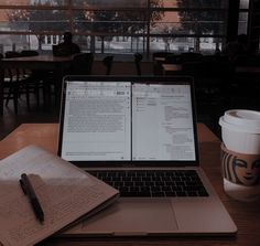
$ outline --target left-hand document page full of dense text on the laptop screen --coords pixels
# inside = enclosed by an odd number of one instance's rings
[[[65,160],[130,160],[130,83],[67,84]]]

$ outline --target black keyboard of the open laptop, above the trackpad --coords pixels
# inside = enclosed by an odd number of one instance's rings
[[[194,170],[88,171],[123,197],[208,196]]]

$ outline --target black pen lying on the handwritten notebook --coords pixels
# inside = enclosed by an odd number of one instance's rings
[[[37,200],[37,196],[33,190],[33,186],[28,178],[28,175],[25,173],[23,173],[21,175],[21,180],[20,180],[20,184],[21,184],[21,188],[24,192],[24,194],[29,197],[30,200],[30,203],[32,205],[32,208],[33,208],[33,212],[36,216],[36,218],[40,221],[40,222],[43,222],[44,221],[44,213],[43,213],[43,210],[42,210],[42,206]]]

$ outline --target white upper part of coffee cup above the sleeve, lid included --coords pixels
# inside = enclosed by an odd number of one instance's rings
[[[227,149],[240,153],[260,153],[260,111],[228,110],[220,117],[219,125]]]

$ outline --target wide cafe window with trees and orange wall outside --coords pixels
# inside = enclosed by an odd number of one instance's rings
[[[1,0],[0,43],[47,52],[72,31],[96,53],[212,53],[225,42],[227,8],[226,0]]]

